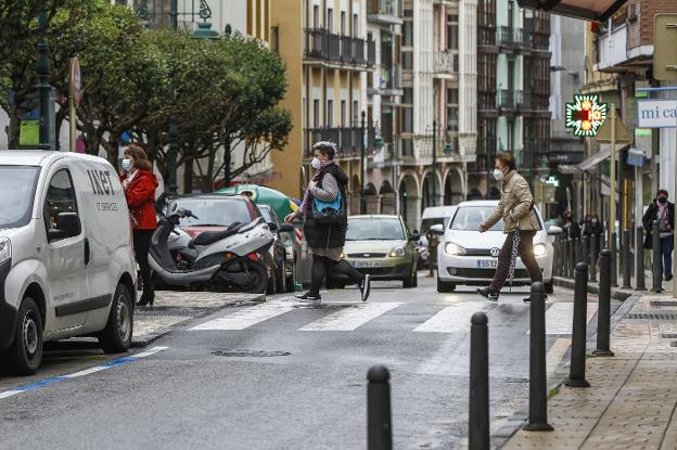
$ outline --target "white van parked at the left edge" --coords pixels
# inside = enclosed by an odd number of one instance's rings
[[[42,343],[131,344],[136,262],[129,211],[105,159],[0,152],[0,360],[31,374]]]

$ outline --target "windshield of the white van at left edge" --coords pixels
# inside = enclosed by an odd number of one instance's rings
[[[0,229],[28,223],[39,173],[35,166],[0,166]]]

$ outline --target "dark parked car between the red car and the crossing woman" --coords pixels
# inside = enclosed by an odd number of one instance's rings
[[[294,240],[290,235],[294,232],[294,227],[284,223],[278,217],[274,208],[270,205],[258,205],[258,209],[270,226],[270,230],[276,236],[274,262],[276,262],[276,291],[279,293],[294,292],[296,278],[296,252]],[[273,226],[274,224],[274,226]]]

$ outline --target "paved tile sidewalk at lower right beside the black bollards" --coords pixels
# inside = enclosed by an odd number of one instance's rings
[[[591,387],[562,385],[548,401],[554,432],[520,429],[503,449],[677,449],[677,301],[630,301],[611,336],[615,357],[586,361]]]

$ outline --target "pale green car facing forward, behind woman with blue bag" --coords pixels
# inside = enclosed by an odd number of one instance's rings
[[[399,216],[349,216],[343,257],[372,280],[401,280],[404,287],[416,287],[419,237]]]

